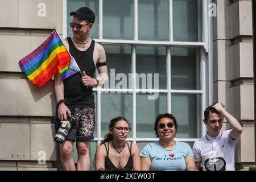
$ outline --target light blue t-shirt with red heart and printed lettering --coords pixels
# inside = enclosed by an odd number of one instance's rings
[[[192,156],[191,147],[185,142],[176,141],[172,150],[166,150],[159,142],[148,143],[141,151],[141,156],[150,158],[151,171],[184,171],[186,169],[185,158]]]

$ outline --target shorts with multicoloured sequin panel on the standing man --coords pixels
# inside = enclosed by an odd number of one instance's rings
[[[95,113],[92,107],[69,109],[75,117],[75,123],[71,126],[66,139],[73,140],[92,140],[95,127]],[[57,126],[55,126],[56,128]],[[59,126],[60,127],[60,126]],[[59,129],[57,127],[57,129]]]

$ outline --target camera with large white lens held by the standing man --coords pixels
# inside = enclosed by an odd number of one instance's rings
[[[61,125],[59,130],[57,131],[54,140],[57,143],[63,143],[65,138],[68,135],[68,131],[71,129],[71,125],[74,123],[75,117],[71,115],[71,117],[68,118],[68,121],[60,121]]]

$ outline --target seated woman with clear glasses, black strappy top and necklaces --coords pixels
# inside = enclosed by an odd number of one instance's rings
[[[110,121],[109,133],[95,154],[95,169],[98,170],[141,170],[137,144],[127,142],[131,128],[126,118],[117,117]]]

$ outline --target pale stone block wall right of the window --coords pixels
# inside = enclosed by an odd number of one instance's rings
[[[254,163],[253,31],[251,1],[216,0],[213,18],[214,101],[243,125],[236,168]]]

